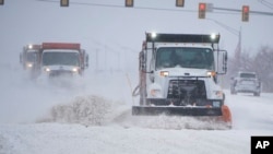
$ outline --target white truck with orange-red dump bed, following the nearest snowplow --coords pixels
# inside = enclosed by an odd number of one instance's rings
[[[88,56],[80,44],[43,43],[39,63],[41,75],[80,76],[88,67]]]

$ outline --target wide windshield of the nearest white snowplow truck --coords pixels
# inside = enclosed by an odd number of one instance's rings
[[[192,47],[161,47],[156,52],[156,69],[195,68],[214,70],[213,50]]]

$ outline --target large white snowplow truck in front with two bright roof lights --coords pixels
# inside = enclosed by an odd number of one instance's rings
[[[227,51],[219,35],[146,33],[139,54],[139,105],[132,115],[222,116],[232,121],[219,76]]]

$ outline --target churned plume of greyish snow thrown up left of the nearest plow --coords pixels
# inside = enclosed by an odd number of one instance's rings
[[[71,103],[56,105],[50,110],[47,122],[81,123],[85,126],[102,126],[106,115],[111,109],[111,103],[99,96],[78,96]]]

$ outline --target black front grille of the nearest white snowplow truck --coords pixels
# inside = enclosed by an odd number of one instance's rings
[[[170,80],[167,98],[175,105],[193,105],[206,99],[205,84],[202,80]]]

